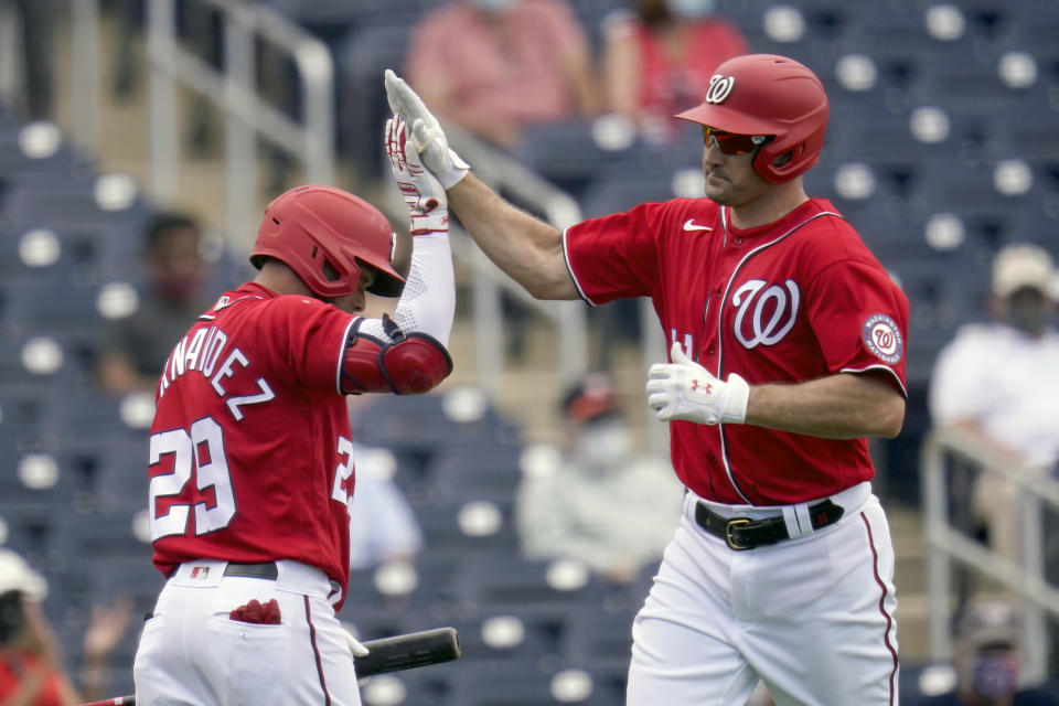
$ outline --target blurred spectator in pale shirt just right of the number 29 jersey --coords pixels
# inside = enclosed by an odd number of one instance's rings
[[[415,511],[394,482],[397,461],[386,449],[355,445],[356,485],[350,501],[350,568],[411,561],[422,548]]]

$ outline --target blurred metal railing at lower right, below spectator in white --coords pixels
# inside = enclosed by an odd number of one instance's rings
[[[999,473],[1019,489],[1021,563],[993,552],[950,522],[946,458],[969,461],[976,472]],[[1048,633],[1046,613],[1059,618],[1059,589],[1045,577],[1042,506],[1059,509],[1059,482],[1037,469],[1013,467],[1010,459],[981,437],[960,429],[933,430],[923,440],[920,472],[923,522],[927,530],[927,591],[930,610],[930,653],[934,661],[952,654],[950,599],[952,563],[967,566],[1004,586],[1023,599],[1024,677],[1047,676]]]

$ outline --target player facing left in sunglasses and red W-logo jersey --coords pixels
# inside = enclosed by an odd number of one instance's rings
[[[718,66],[704,103],[706,199],[559,233],[448,147],[392,72],[391,106],[474,240],[542,299],[651,297],[671,345],[648,403],[670,422],[684,516],[633,623],[630,706],[897,703],[894,552],[867,437],[905,416],[908,301],[802,174],[827,98],[790,58]]]

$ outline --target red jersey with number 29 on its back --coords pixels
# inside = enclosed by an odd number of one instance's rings
[[[151,425],[162,573],[196,558],[295,559],[345,593],[354,473],[339,374],[356,320],[252,282],[223,295],[176,344]]]

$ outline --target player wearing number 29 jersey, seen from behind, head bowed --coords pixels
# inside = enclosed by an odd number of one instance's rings
[[[349,578],[344,395],[425,393],[451,371],[445,192],[387,124],[411,214],[408,287],[382,213],[330,186],[265,211],[257,278],[165,363],[150,438],[154,564],[169,577],[136,655],[137,704],[361,703],[335,618]],[[400,300],[364,319],[364,292]],[[404,293],[402,293],[404,292]]]

